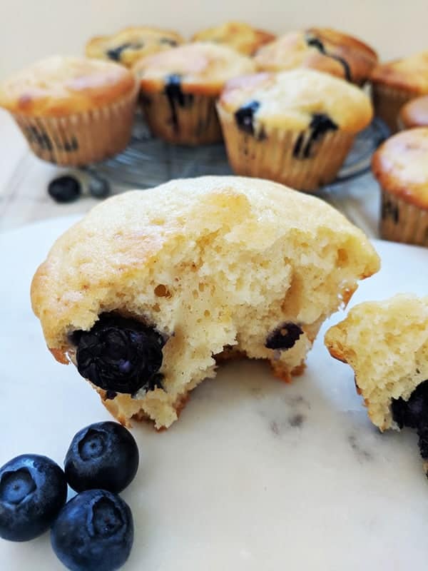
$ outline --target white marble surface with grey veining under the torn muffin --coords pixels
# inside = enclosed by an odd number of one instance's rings
[[[29,303],[31,276],[69,223],[0,235],[0,465],[30,452],[61,464],[78,429],[108,419],[76,370],[51,358]],[[352,303],[427,293],[427,249],[375,245],[382,271]],[[416,438],[372,427],[352,371],[321,337],[292,385],[262,363],[231,363],[170,430],[133,434],[141,468],[123,492],[136,522],[128,571],[425,568],[428,482]],[[60,569],[49,535],[0,540],[2,571]]]

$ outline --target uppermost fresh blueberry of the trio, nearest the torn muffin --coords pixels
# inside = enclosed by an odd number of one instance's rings
[[[119,423],[91,424],[71,440],[64,468],[76,492],[96,487],[121,492],[136,475],[138,446]]]

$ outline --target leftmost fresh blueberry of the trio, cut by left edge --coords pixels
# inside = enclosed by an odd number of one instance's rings
[[[23,454],[0,468],[0,537],[27,541],[41,535],[66,502],[66,476],[54,460]]]

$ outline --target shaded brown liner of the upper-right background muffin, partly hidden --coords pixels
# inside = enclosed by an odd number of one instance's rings
[[[372,84],[374,114],[380,117],[395,133],[399,130],[399,111],[407,101],[419,93],[411,89],[399,89],[382,84]]]

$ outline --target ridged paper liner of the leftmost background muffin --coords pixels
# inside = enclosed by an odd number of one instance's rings
[[[123,151],[131,138],[137,91],[111,105],[62,117],[13,114],[39,158],[61,166],[83,166]]]

